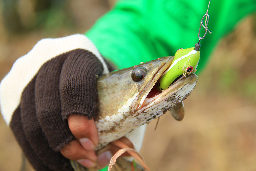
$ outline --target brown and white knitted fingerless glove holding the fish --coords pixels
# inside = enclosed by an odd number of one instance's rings
[[[108,67],[83,35],[43,39],[0,84],[1,113],[36,170],[73,170],[59,150],[74,140],[73,113],[95,117],[96,79]]]

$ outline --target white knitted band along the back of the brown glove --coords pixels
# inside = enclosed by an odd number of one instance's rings
[[[42,39],[28,54],[20,57],[0,84],[0,106],[4,120],[9,125],[12,114],[18,107],[23,89],[36,75],[40,67],[52,58],[75,49],[92,52],[103,65],[103,74],[108,68],[95,45],[84,35],[71,35],[57,39]]]

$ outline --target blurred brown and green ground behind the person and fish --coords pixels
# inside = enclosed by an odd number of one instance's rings
[[[114,2],[0,1],[0,80],[40,39],[84,33]],[[152,170],[256,170],[255,54],[253,14],[211,54],[184,101],[185,119],[176,121],[167,112],[155,131],[156,120],[148,124],[141,155]],[[0,170],[19,170],[21,156],[0,116]]]

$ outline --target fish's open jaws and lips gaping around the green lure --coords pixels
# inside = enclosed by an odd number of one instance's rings
[[[197,75],[193,73],[186,77],[183,75],[178,76],[172,82],[172,84],[170,84],[170,86],[167,89],[162,90],[162,92],[159,92],[156,89],[156,83],[158,79],[169,68],[171,63],[172,63],[172,59],[170,58],[169,61],[167,61],[162,66],[160,66],[158,71],[152,77],[151,81],[149,81],[149,83],[145,86],[145,88],[134,99],[132,104],[132,111],[134,113],[138,114],[138,113],[142,113],[144,110],[148,108],[154,109],[156,107],[160,107],[160,104],[163,105],[164,101],[166,101],[167,103],[170,97],[176,95],[176,93],[182,90],[186,85],[193,84],[193,86],[186,86],[187,88],[185,87],[183,89],[183,94],[185,93],[185,95],[189,94],[191,90],[194,88],[197,82]],[[178,99],[178,97],[176,98]],[[182,99],[179,99],[179,100],[181,101]],[[166,108],[168,108],[168,106]]]

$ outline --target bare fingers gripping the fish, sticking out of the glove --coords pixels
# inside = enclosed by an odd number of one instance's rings
[[[97,152],[94,151],[98,145],[98,132],[94,119],[88,119],[82,115],[71,115],[68,117],[69,129],[76,137],[76,140],[65,145],[61,154],[66,158],[77,161],[81,165],[91,168],[97,165],[97,168],[103,168],[109,164],[111,157],[120,149],[119,147],[108,144]],[[131,148],[133,144],[125,137],[119,139]],[[128,156],[127,153],[122,156]]]

